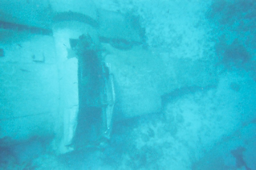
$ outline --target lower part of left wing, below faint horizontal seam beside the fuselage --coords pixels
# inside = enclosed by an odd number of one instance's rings
[[[39,135],[53,128],[59,109],[55,65],[0,63],[0,81],[0,137]]]

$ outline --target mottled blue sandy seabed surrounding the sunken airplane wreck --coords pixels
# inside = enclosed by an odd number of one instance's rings
[[[85,147],[83,138],[93,141],[95,134],[90,124],[81,125],[86,115],[78,116],[74,142],[78,148],[66,154],[55,155],[49,149],[52,136],[38,135],[11,145],[0,139],[0,169],[256,169],[256,1],[94,3],[100,9],[140,18],[134,23],[139,22],[137,29],[143,30],[143,45],[163,61],[159,72],[167,67],[166,74],[186,82],[212,70],[214,83],[177,86],[162,95],[160,112],[116,118],[104,147]],[[195,72],[193,64],[180,74],[171,70],[192,61],[204,61],[206,66],[202,72]],[[170,70],[168,64],[173,64]],[[91,117],[89,122],[97,121]]]

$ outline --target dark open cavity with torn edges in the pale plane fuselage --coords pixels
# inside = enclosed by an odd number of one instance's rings
[[[96,147],[104,146],[105,140],[110,139],[115,104],[111,65],[104,62],[102,50],[93,42],[89,34],[83,34],[78,39],[70,39],[70,46],[76,52],[78,59],[79,110],[81,115],[84,115],[79,119],[82,121],[78,120],[78,123],[81,122],[79,128],[80,130],[82,128],[82,131],[89,129],[86,134],[94,136],[85,137],[88,139],[86,147],[95,147],[95,144]],[[84,138],[84,135],[75,135],[75,141],[80,141],[79,139]]]

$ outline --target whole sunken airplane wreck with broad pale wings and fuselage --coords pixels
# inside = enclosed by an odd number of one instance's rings
[[[90,0],[10,0],[0,9],[0,145],[40,136],[59,154],[104,146],[113,121],[160,112],[182,87],[215,84],[209,61],[145,48],[131,14]]]

